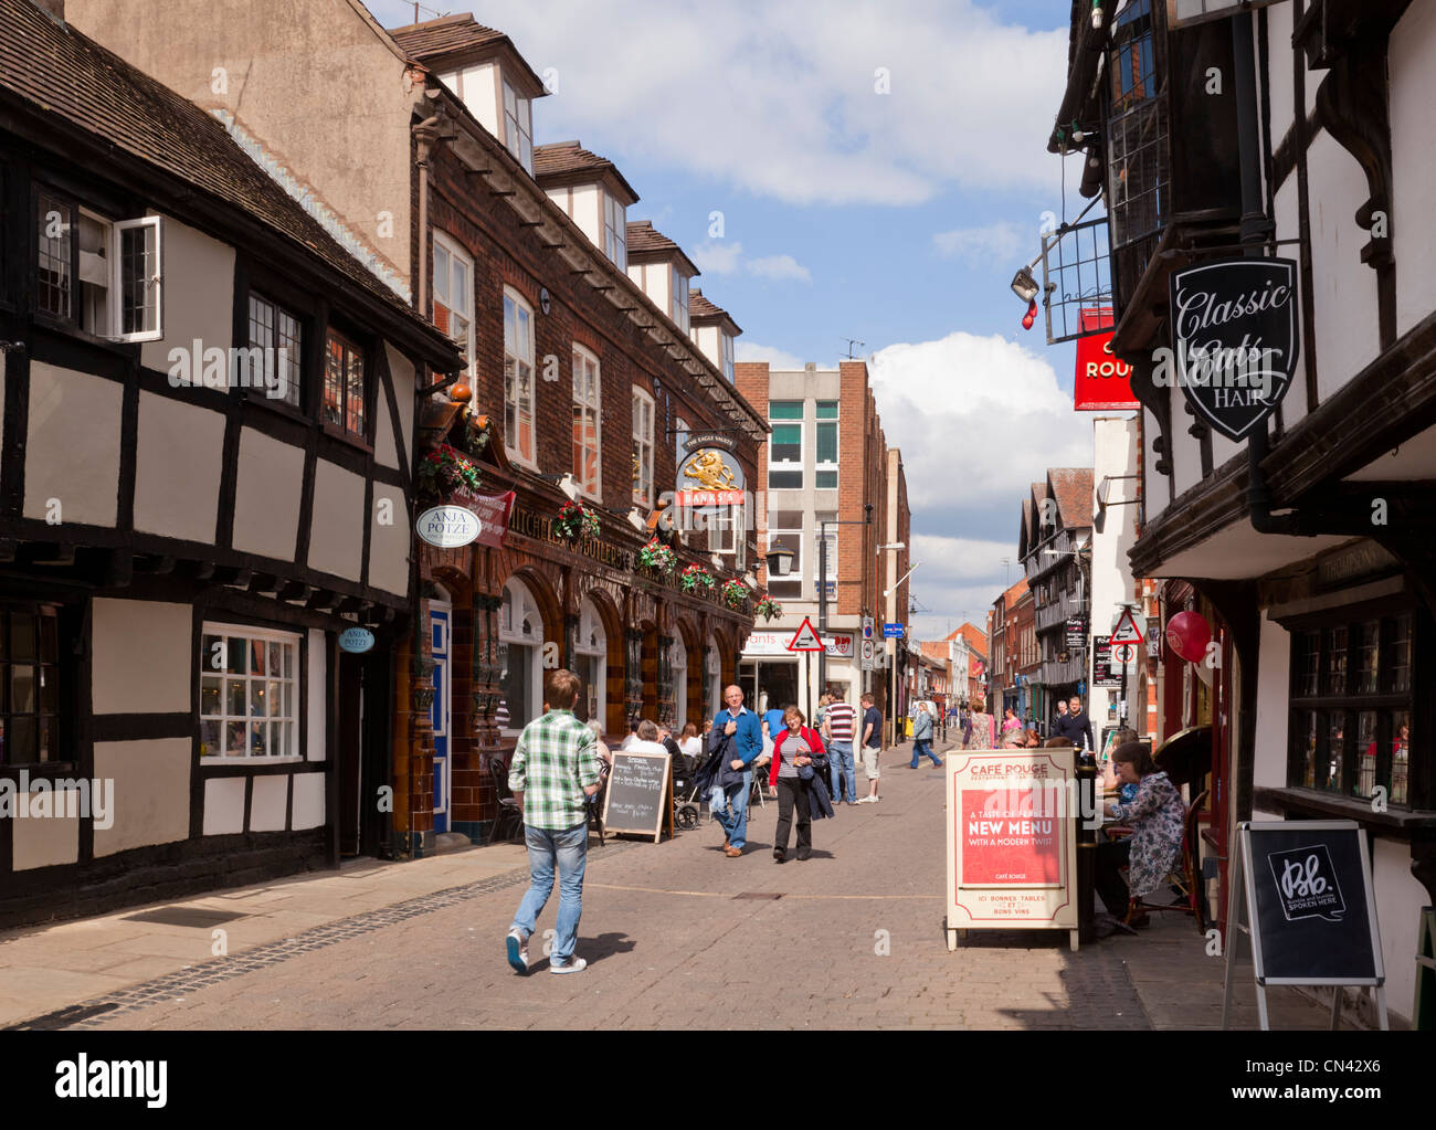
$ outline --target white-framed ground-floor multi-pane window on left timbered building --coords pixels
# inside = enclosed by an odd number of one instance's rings
[[[303,757],[297,635],[205,623],[197,666],[201,764]]]

